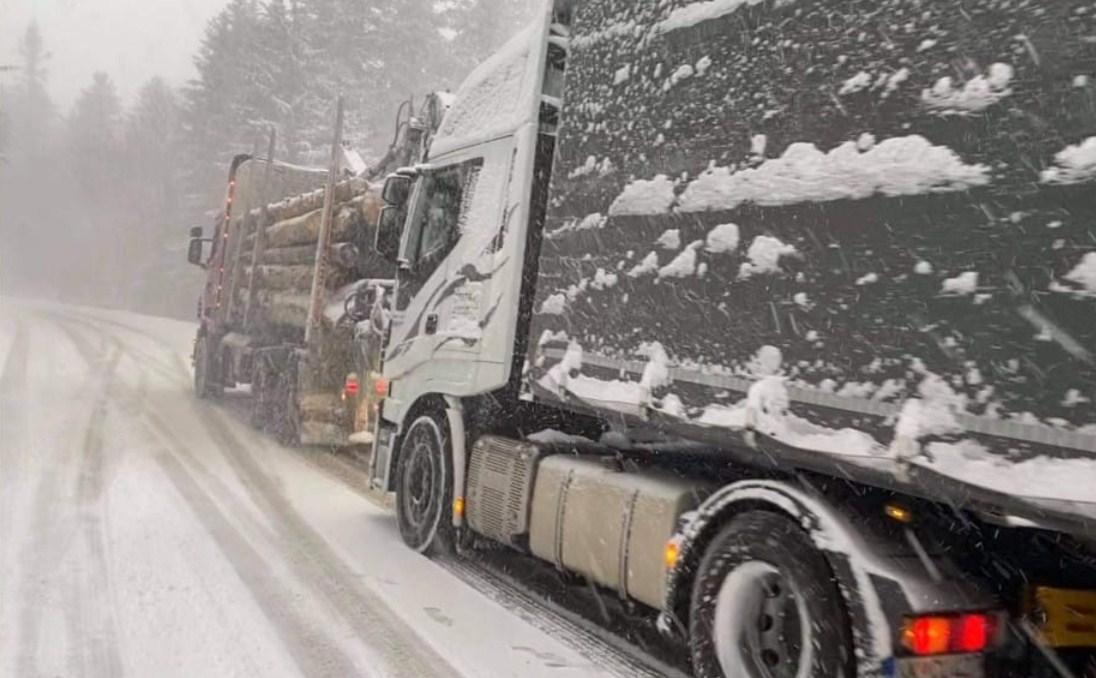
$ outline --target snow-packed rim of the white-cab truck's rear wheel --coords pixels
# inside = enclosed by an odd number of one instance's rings
[[[712,624],[726,676],[807,678],[812,662],[811,619],[802,596],[780,571],[743,563],[719,589]]]

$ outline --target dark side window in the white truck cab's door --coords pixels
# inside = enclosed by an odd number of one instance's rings
[[[419,273],[429,275],[433,269],[431,263],[448,254],[459,238],[482,164],[481,159],[470,160],[429,172],[423,177],[411,234],[418,242],[410,242],[408,248],[415,264],[431,268]]]

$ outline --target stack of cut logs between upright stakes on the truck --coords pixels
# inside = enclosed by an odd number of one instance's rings
[[[254,276],[251,258],[259,233],[256,227],[263,220],[264,210],[254,209],[248,215],[242,225],[243,250],[239,257],[241,269],[233,304],[237,320],[243,318],[250,296],[248,285],[253,280],[256,294],[249,324],[305,327],[323,219],[323,189],[313,191],[266,207],[266,226]],[[372,232],[377,222],[381,205],[379,186],[363,179],[335,184],[331,255],[326,276],[328,302],[334,290],[363,277],[361,248],[365,244],[364,235]]]

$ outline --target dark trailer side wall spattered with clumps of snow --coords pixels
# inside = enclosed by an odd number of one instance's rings
[[[1081,1],[576,5],[530,390],[1096,533],[1094,34]]]

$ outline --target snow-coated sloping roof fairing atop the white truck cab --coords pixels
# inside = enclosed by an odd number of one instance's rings
[[[431,157],[515,131],[535,119],[545,20],[536,21],[480,64],[460,84],[431,143]]]

